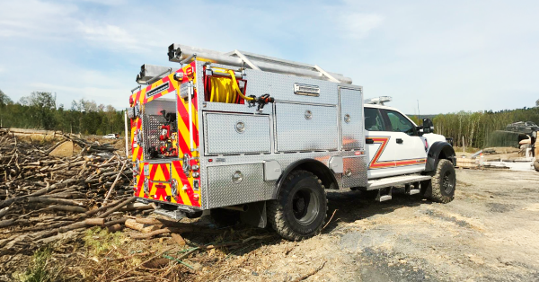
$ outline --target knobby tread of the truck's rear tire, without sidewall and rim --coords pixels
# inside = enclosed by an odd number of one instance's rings
[[[281,191],[279,192],[279,195],[277,196],[277,199],[269,200],[267,202],[267,212],[268,212],[268,221],[270,222],[271,226],[273,227],[273,230],[275,230],[281,237],[290,240],[290,241],[302,241],[304,239],[307,239],[312,236],[303,236],[300,234],[296,234],[290,226],[287,225],[287,219],[285,218],[285,213],[283,210],[283,207],[280,205],[279,201],[281,199],[281,195],[286,194],[290,189],[293,187],[287,185],[287,183],[290,183],[293,179],[296,177],[300,177],[303,174],[308,174],[310,177],[313,177],[323,188],[323,197],[326,197],[326,190],[322,184],[322,181],[318,179],[318,177],[312,173],[302,170],[297,170],[294,172],[290,172],[287,175],[287,179],[285,180],[285,183],[283,183],[283,186],[281,188]],[[326,198],[326,211],[327,211],[327,198]],[[325,224],[327,217],[327,212],[324,213],[323,223],[320,225],[318,230],[314,232],[314,235],[320,234],[322,231],[323,225]]]

